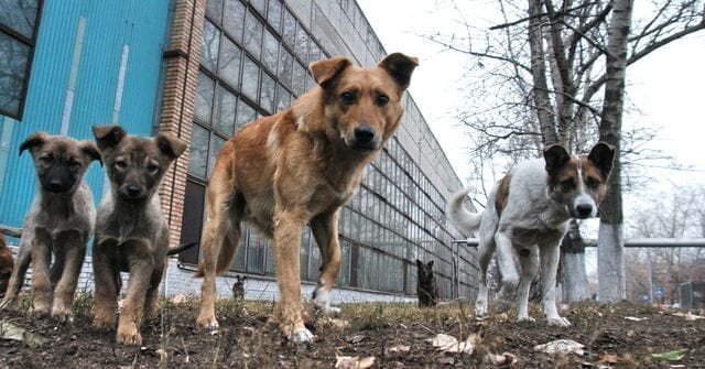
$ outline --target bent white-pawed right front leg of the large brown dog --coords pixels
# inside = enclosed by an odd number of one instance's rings
[[[313,292],[314,303],[326,314],[337,314],[330,306],[330,290],[340,271],[340,245],[338,243],[338,210],[321,214],[311,220],[311,230],[321,249],[323,264],[318,285]]]

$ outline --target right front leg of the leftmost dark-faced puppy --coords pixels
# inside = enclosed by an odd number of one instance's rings
[[[63,261],[63,272],[58,281],[55,282],[52,316],[59,321],[70,322],[78,274],[80,274],[80,268],[86,258],[85,239],[77,231],[62,232],[56,239],[55,249],[64,258],[61,260]],[[57,261],[59,261],[59,258],[57,258]]]

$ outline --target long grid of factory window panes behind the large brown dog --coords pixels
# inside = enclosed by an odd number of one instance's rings
[[[314,82],[305,65],[322,57],[326,55],[321,46],[281,0],[208,1],[188,165],[187,192],[197,196],[187,194],[187,213],[203,218],[203,187],[225,140],[257,117],[289,107],[311,88]],[[343,260],[337,284],[414,294],[415,260],[435,260],[441,295],[449,296],[451,240],[460,237],[454,228],[446,229],[444,207],[444,198],[412,156],[395,138],[390,140],[366,170],[359,193],[340,211]],[[194,225],[182,228],[187,227]],[[184,235],[193,239],[182,242],[197,241],[200,230]],[[184,261],[196,262],[192,257]],[[321,252],[306,228],[302,280],[316,281],[319,267]],[[245,227],[232,269],[273,274],[271,241]],[[459,282],[469,289],[469,274]]]

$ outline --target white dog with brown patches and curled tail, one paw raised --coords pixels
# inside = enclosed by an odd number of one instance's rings
[[[487,268],[497,249],[502,275],[498,306],[506,308],[518,289],[518,318],[533,321],[529,316],[529,289],[541,267],[547,323],[570,325],[558,315],[555,305],[561,240],[571,218],[597,216],[607,192],[615,149],[600,142],[588,155],[572,158],[565,148],[556,144],[546,148],[543,155],[544,160],[517,165],[499,181],[482,214],[465,210],[463,200],[467,191],[455,194],[448,204],[448,216],[458,227],[468,232],[479,227],[480,285],[475,304],[479,316],[487,314]]]

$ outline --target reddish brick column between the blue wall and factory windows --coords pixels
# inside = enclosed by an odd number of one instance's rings
[[[186,142],[191,142],[206,1],[176,1],[171,44],[164,52],[166,73],[159,131]],[[181,239],[188,155],[186,150],[172,164],[160,189],[162,209],[171,229],[171,247],[177,246]]]

